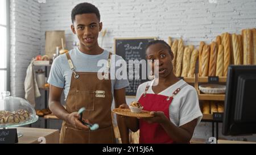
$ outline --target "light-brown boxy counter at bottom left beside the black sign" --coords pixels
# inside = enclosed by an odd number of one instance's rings
[[[60,131],[57,129],[17,128],[17,131],[23,133],[18,144],[59,144]]]

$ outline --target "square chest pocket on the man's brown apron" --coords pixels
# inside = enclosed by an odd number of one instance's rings
[[[94,101],[94,91],[76,91],[76,110],[85,107],[86,111],[94,111]]]

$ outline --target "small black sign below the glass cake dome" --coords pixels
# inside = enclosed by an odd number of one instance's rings
[[[0,144],[18,143],[17,129],[0,129]]]

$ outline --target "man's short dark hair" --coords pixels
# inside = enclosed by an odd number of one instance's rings
[[[81,14],[96,14],[98,21],[101,21],[100,11],[91,3],[80,3],[74,7],[71,13],[72,23],[74,23],[76,15]]]

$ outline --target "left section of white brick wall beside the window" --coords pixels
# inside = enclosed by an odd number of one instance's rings
[[[11,94],[24,97],[24,79],[31,58],[40,53],[40,4],[10,1]]]

